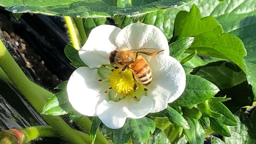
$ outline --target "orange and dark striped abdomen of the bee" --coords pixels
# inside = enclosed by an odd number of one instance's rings
[[[135,77],[144,86],[148,86],[152,80],[151,69],[144,58],[137,58],[133,64],[130,64]]]

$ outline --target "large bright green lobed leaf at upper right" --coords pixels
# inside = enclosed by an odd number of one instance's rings
[[[243,42],[228,33],[223,33],[221,25],[214,17],[201,18],[199,8],[193,5],[190,12],[181,11],[174,23],[174,35],[178,39],[195,37],[194,43],[186,52],[197,50],[199,54],[229,59],[245,70],[246,50]]]

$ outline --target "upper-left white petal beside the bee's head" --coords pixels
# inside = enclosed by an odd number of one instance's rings
[[[115,40],[120,28],[113,25],[99,25],[93,28],[84,46],[79,50],[83,62],[91,68],[109,64],[108,55],[116,48]]]

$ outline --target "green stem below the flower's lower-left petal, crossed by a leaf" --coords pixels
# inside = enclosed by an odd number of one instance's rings
[[[92,122],[88,117],[81,117],[76,121],[79,126],[83,127],[84,132],[88,133],[91,131],[91,124]],[[94,144],[109,144],[109,142],[106,140],[106,138],[97,130],[96,138]]]

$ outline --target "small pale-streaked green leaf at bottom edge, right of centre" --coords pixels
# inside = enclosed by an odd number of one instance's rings
[[[204,128],[196,119],[187,119],[190,129],[184,129],[190,144],[204,143]]]

